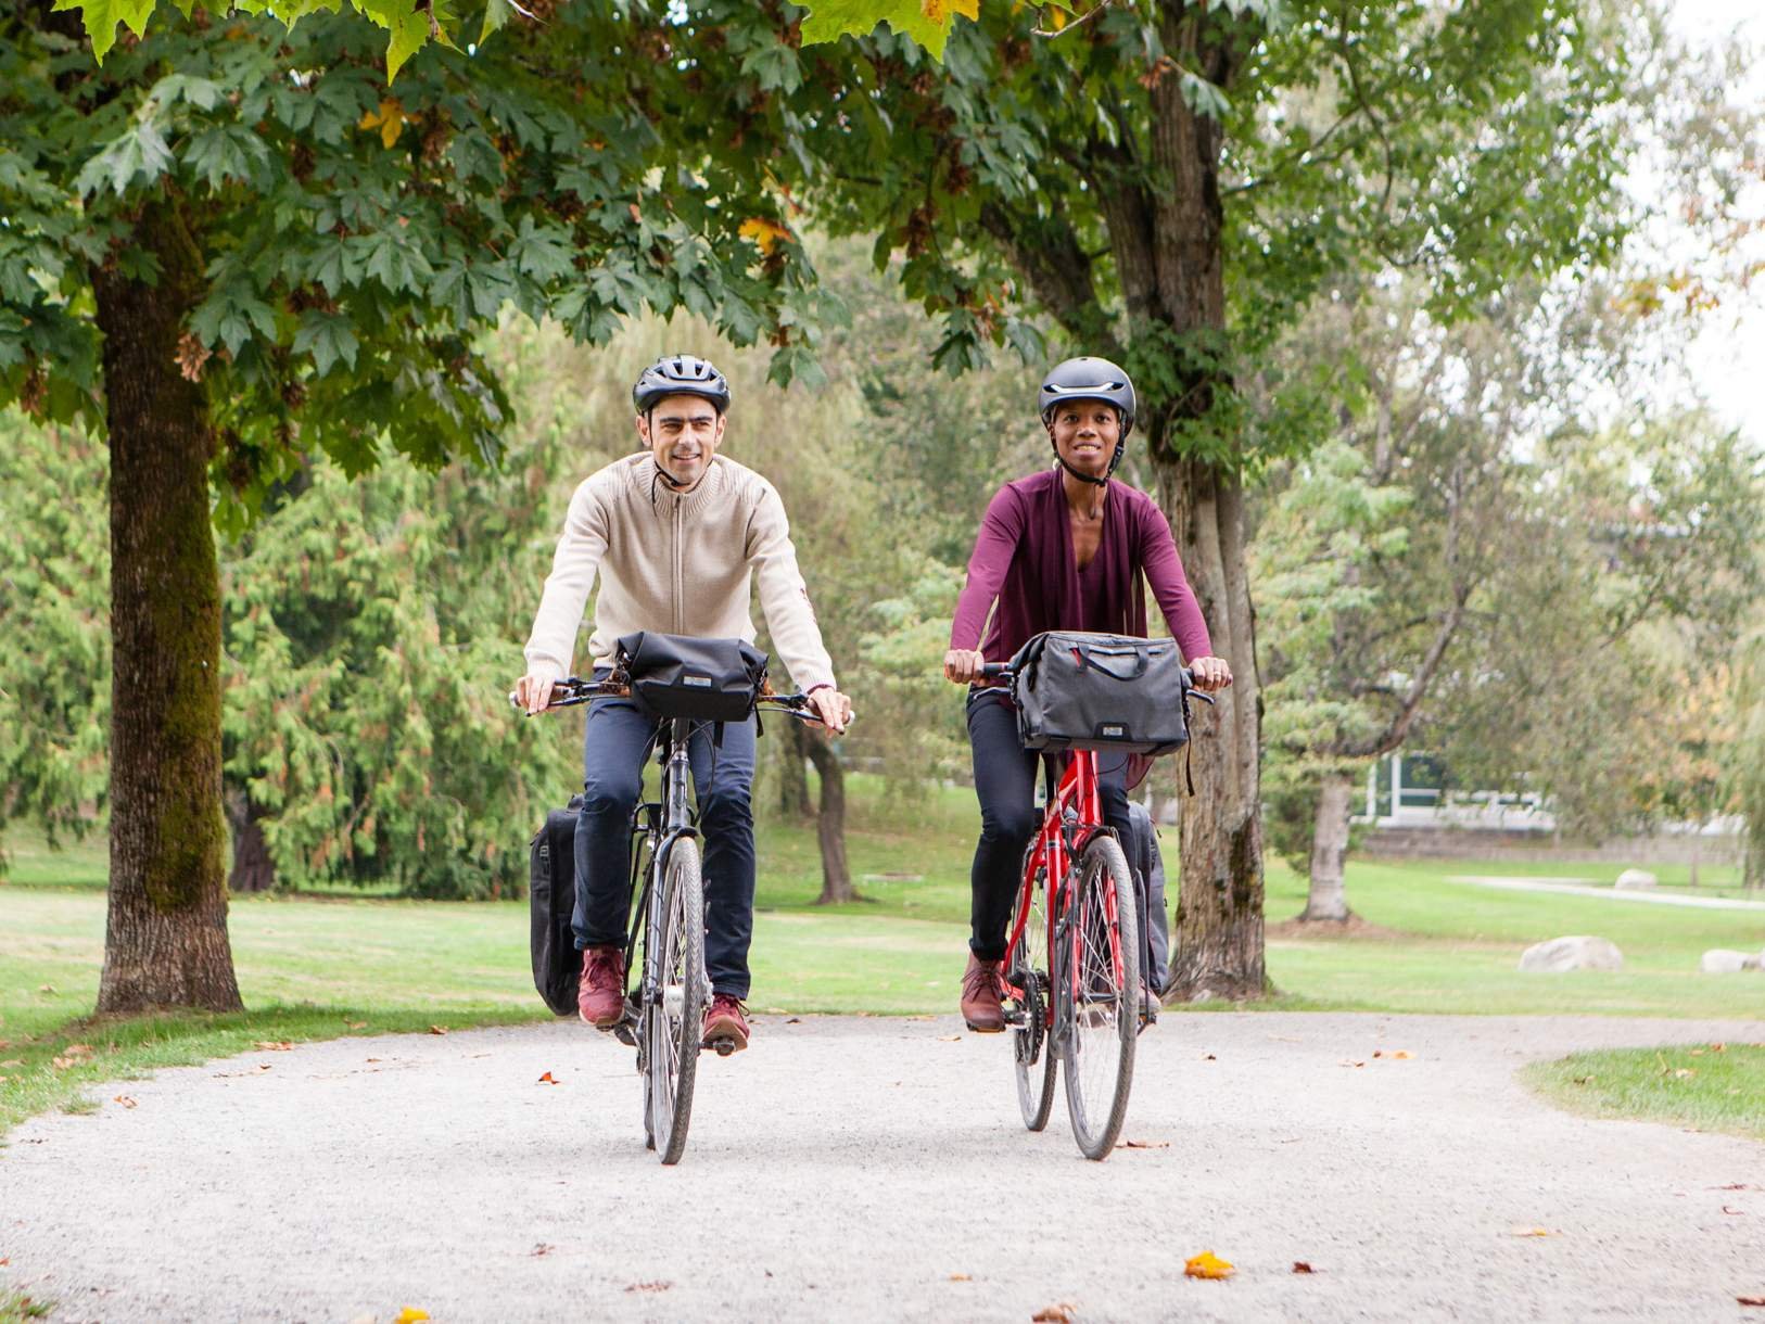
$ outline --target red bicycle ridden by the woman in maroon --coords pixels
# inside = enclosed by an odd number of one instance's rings
[[[1008,664],[983,673],[1011,678]],[[1147,1012],[1140,906],[1121,842],[1103,823],[1096,759],[1073,750],[1059,780],[1048,775],[1047,810],[1024,853],[1006,929],[1004,1020],[1024,1125],[1048,1125],[1064,1063],[1073,1139],[1085,1158],[1101,1160],[1128,1116]]]

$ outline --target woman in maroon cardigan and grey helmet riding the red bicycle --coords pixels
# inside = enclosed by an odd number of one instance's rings
[[[1024,847],[1038,824],[1040,756],[1018,740],[1006,694],[980,685],[981,667],[1010,660],[1043,630],[1144,636],[1144,584],[1151,584],[1195,685],[1218,690],[1232,683],[1232,669],[1213,655],[1163,512],[1145,493],[1112,482],[1133,431],[1128,374],[1107,358],[1068,358],[1043,378],[1038,402],[1057,463],[1008,482],[988,503],[944,653],[944,676],[976,685],[967,718],[981,837],[971,872],[962,1017],[987,1034],[1004,1029],[1006,922]],[[995,600],[983,643],[981,627]],[[1103,819],[1123,840],[1131,830],[1128,759],[1098,756]]]

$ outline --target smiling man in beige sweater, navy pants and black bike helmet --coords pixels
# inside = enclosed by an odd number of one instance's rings
[[[665,355],[632,387],[642,452],[590,475],[570,498],[563,537],[526,644],[528,674],[515,699],[528,713],[551,703],[568,673],[577,625],[595,575],[595,676],[611,671],[614,643],[634,630],[754,641],[750,584],[773,646],[815,715],[833,733],[852,717],[808,590],[796,565],[778,491],[717,450],[729,383],[710,362]],[[630,913],[630,819],[642,787],[657,718],[634,699],[597,699],[582,741],[582,809],[575,830],[575,946],[582,952],[577,1010],[607,1029],[625,1015],[625,936]],[[720,743],[699,729],[688,749],[704,833],[704,964],[711,1004],[704,1040],[748,1043],[754,934],[754,736],[750,717],[724,724]]]

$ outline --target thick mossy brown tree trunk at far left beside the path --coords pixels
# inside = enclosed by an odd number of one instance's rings
[[[94,274],[111,450],[111,860],[101,1013],[240,1010],[221,819],[221,575],[208,515],[215,436],[173,357],[203,290],[175,199],[134,240],[157,284]]]

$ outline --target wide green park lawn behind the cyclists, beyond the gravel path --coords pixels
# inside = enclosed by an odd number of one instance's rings
[[[944,1013],[965,959],[973,793],[888,805],[854,779],[849,858],[863,902],[815,907],[814,831],[762,823],[755,1012]],[[240,897],[231,937],[238,1017],[79,1020],[97,997],[104,849],[51,853],[11,837],[0,884],[0,1130],[81,1089],[258,1042],[427,1031],[544,1019],[528,976],[524,902],[406,902],[353,895]],[[1165,858],[1175,867],[1175,842]],[[1373,932],[1271,937],[1290,1010],[1765,1017],[1765,976],[1707,976],[1712,946],[1765,948],[1765,911],[1640,906],[1590,895],[1476,888],[1454,874],[1560,877],[1562,867],[1352,861],[1348,900]],[[1615,874],[1615,870],[1611,870]],[[1581,876],[1596,876],[1583,869]],[[1174,900],[1174,897],[1172,897]],[[1276,860],[1271,923],[1297,914],[1304,879]],[[1619,944],[1613,974],[1520,974],[1520,952],[1562,934]],[[1765,1038],[1765,1033],[1761,1033]],[[86,1045],[90,1056],[71,1052]],[[56,1066],[60,1059],[60,1066]]]

